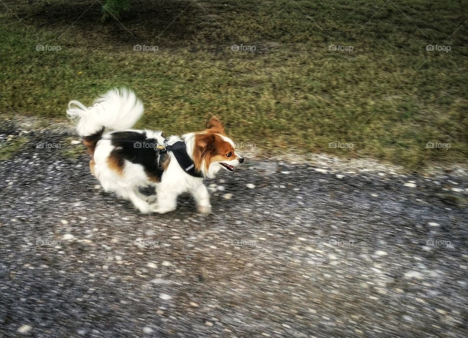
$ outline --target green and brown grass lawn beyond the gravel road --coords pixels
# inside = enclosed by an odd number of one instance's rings
[[[0,15],[0,112],[64,119],[70,99],[124,85],[145,104],[138,126],[168,134],[216,114],[267,155],[373,156],[409,170],[468,158],[468,3],[141,0],[106,24],[92,0],[5,4],[15,15]],[[353,50],[329,50],[339,44]]]

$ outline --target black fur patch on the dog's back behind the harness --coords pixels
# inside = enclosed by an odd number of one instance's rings
[[[136,131],[116,131],[112,133],[111,144],[116,147],[110,156],[118,159],[120,167],[124,160],[143,166],[145,173],[153,181],[159,181],[164,171],[162,158],[157,163],[156,140],[147,139],[146,133]]]

